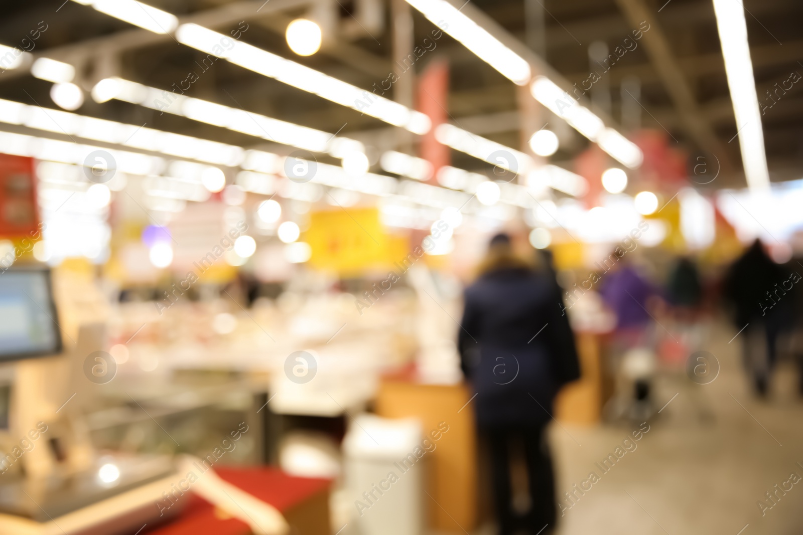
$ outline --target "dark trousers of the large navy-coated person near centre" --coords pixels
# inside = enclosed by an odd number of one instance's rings
[[[531,535],[545,535],[555,527],[555,476],[544,436],[545,428],[545,425],[480,428],[491,452],[494,506],[502,535],[514,533],[517,529],[524,529]],[[530,509],[523,517],[513,511],[511,500],[510,452],[517,440],[524,444],[530,490]],[[549,527],[544,529],[546,525]]]

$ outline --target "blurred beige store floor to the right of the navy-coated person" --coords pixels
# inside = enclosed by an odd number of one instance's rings
[[[803,481],[790,480],[792,473],[803,476],[803,401],[795,394],[796,372],[782,364],[769,399],[757,400],[740,364],[741,340],[728,343],[734,334],[720,326],[704,346],[721,365],[712,383],[666,378],[657,385],[658,407],[671,403],[650,422],[637,448],[609,472],[595,463],[601,464],[638,425],[552,424],[558,494],[565,497],[589,472],[599,476],[585,494],[575,492],[576,503],[560,518],[558,535],[801,533]],[[704,408],[712,418],[701,418]],[[776,484],[792,488],[778,491],[777,504],[762,516],[756,502],[772,505],[765,493],[775,492]],[[495,530],[485,525],[475,533]]]

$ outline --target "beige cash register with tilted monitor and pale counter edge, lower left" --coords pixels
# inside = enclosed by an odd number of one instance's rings
[[[84,414],[100,385],[86,359],[107,349],[104,325],[72,340],[51,288],[46,268],[0,273],[0,535],[134,535],[169,521],[186,500],[159,503],[194,459],[92,448]],[[254,533],[287,532],[278,511],[211,470],[192,492]]]

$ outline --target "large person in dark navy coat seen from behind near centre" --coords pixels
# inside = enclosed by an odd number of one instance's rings
[[[490,445],[493,491],[500,533],[522,527],[533,535],[556,522],[552,460],[544,430],[562,385],[580,367],[560,290],[532,261],[513,253],[510,237],[491,240],[479,279],[465,291],[458,340],[463,374],[476,393],[481,436]],[[512,510],[509,450],[524,442],[531,507]],[[524,525],[522,525],[524,524]]]

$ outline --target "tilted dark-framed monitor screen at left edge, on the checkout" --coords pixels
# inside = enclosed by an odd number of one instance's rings
[[[0,274],[0,360],[59,353],[58,321],[47,270]]]

